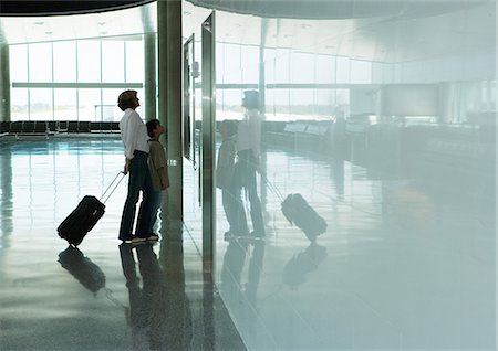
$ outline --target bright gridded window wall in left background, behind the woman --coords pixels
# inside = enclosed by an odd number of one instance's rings
[[[11,120],[121,118],[117,95],[142,94],[142,35],[10,46]]]

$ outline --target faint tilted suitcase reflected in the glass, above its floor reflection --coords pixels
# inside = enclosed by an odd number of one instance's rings
[[[311,208],[301,194],[290,194],[282,202],[286,219],[295,224],[310,241],[326,231],[326,222]]]

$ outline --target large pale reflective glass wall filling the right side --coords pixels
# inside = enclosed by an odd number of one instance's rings
[[[220,296],[249,350],[492,349],[495,6],[369,3],[216,12]]]

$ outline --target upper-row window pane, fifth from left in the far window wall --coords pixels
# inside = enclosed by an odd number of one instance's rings
[[[102,82],[124,82],[123,41],[102,41]]]

